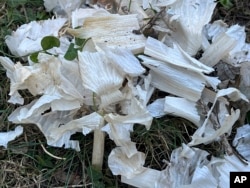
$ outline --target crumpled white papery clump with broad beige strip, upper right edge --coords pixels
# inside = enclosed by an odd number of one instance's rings
[[[206,40],[212,40],[211,45],[208,44],[203,49],[205,54],[202,61],[205,63],[213,65],[223,59],[233,66],[240,66],[250,61],[250,44],[246,43],[245,27],[239,25],[228,27],[223,21],[218,20],[208,24],[204,33]]]

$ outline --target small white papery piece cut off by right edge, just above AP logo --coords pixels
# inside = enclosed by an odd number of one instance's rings
[[[250,125],[243,125],[237,128],[236,135],[233,140],[233,146],[245,159],[250,161]]]

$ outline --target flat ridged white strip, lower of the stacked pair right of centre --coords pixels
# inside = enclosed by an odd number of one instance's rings
[[[187,71],[186,68],[140,55],[142,64],[150,68],[152,85],[162,91],[184,97],[191,101],[198,101],[205,85],[216,89],[220,83],[217,78],[204,76],[202,73]]]

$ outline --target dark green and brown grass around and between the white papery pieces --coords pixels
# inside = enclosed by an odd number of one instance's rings
[[[229,25],[246,25],[250,42],[250,10],[249,5],[245,3],[247,1],[235,0],[230,10],[217,6],[214,19],[224,19]],[[11,30],[31,20],[46,19],[49,16],[42,7],[42,0],[1,1],[0,55],[12,57],[4,44],[4,37]],[[8,92],[9,80],[0,65],[0,131],[7,131],[15,126],[7,120],[8,115],[16,107],[7,103]],[[26,101],[30,100],[26,92],[23,95]],[[130,187],[123,185],[119,177],[113,176],[108,169],[107,157],[114,148],[114,143],[107,137],[103,171],[98,172],[91,168],[90,162],[92,135],[74,135],[74,139],[81,143],[81,152],[75,152],[46,146],[45,138],[34,125],[25,125],[24,128],[24,134],[9,143],[8,149],[0,148],[0,187]],[[136,125],[131,137],[137,143],[138,150],[147,156],[145,166],[162,170],[166,166],[164,160],[170,158],[172,150],[179,147],[182,142],[189,142],[189,135],[193,132],[193,126],[188,121],[165,117],[155,120],[149,131],[143,126]],[[42,145],[49,153],[65,160],[49,156]],[[220,151],[215,149],[218,145],[210,147],[211,152],[220,155]]]

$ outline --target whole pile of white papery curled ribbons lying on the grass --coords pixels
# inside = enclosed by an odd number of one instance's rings
[[[249,163],[234,153],[208,160],[208,152],[194,147],[226,139],[246,110],[230,106],[249,106],[250,44],[244,27],[209,23],[214,0],[122,0],[116,14],[95,5],[82,8],[80,0],[44,1],[48,11],[64,14],[22,25],[6,37],[10,51],[28,65],[0,57],[11,81],[9,102],[22,105],[9,121],[35,124],[48,145],[77,151],[79,142],[71,135],[106,132],[117,146],[109,155],[109,168],[135,187],[222,188],[229,187],[230,171],[250,171]],[[166,9],[153,26],[158,39],[132,32],[152,16],[150,8],[159,12],[162,7]],[[91,38],[72,61],[64,58],[72,42],[68,34]],[[58,37],[61,45],[50,54],[39,53],[39,63],[34,63],[29,56],[42,50],[45,36]],[[201,57],[195,58],[199,51]],[[143,55],[135,55],[139,53]],[[229,79],[210,76],[219,63],[240,70],[238,88],[230,87]],[[24,89],[37,99],[23,105],[19,90]],[[149,104],[155,89],[166,96]],[[172,152],[165,170],[147,168],[130,132],[136,124],[149,130],[153,118],[168,114],[189,120],[197,130],[190,143]],[[242,125],[233,141],[247,160],[249,129]],[[7,147],[22,131],[19,125],[0,133],[0,145]]]

